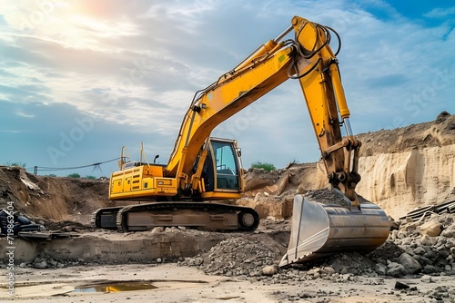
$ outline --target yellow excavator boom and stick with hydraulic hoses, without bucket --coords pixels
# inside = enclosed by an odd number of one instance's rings
[[[355,187],[360,180],[357,172],[360,142],[350,130],[338,61],[329,46],[330,29],[298,16],[291,24],[276,39],[261,45],[241,64],[195,96],[166,168],[168,175],[179,178],[182,188],[191,186],[196,190],[200,175],[192,171],[194,159],[210,132],[291,78],[298,80],[305,96],[329,182],[357,204]],[[292,30],[295,39],[281,41]],[[347,128],[348,136],[344,139],[339,114]],[[203,165],[202,161],[199,165]]]

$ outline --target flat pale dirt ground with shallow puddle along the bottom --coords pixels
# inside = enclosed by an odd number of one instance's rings
[[[372,279],[356,277],[333,283],[314,279],[266,284],[223,276],[208,276],[176,264],[76,266],[67,269],[19,269],[15,298],[21,302],[437,302],[432,293],[453,288],[455,277]],[[135,291],[76,292],[75,288],[103,281],[142,281],[157,287]],[[414,290],[395,288],[397,282]],[[440,300],[441,301],[441,300]],[[446,302],[453,302],[453,299]]]

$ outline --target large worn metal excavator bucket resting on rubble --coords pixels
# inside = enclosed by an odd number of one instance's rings
[[[296,195],[288,252],[280,267],[338,252],[369,252],[388,238],[389,219],[379,206],[361,199],[354,207],[341,191],[330,192],[334,198],[329,201]]]

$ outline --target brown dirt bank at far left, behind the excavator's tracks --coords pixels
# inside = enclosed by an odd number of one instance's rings
[[[90,224],[98,208],[111,206],[106,199],[108,181],[35,176],[20,167],[0,167],[0,209],[8,201],[32,220]]]

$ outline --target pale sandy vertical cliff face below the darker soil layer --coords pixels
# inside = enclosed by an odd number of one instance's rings
[[[410,210],[455,200],[455,144],[359,160],[358,192],[395,219]]]

